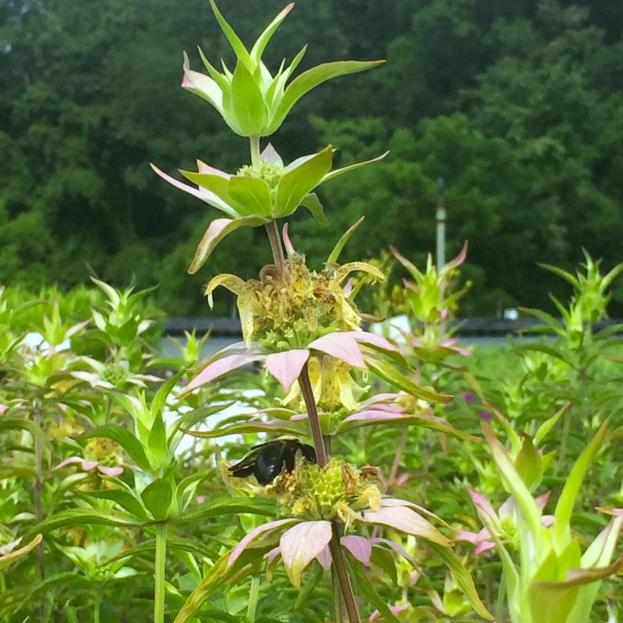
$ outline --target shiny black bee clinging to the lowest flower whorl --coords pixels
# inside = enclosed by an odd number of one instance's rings
[[[251,452],[242,461],[232,465],[229,471],[236,478],[253,475],[261,485],[268,485],[283,469],[292,472],[299,451],[306,461],[316,462],[316,451],[313,446],[287,437],[253,446]]]

